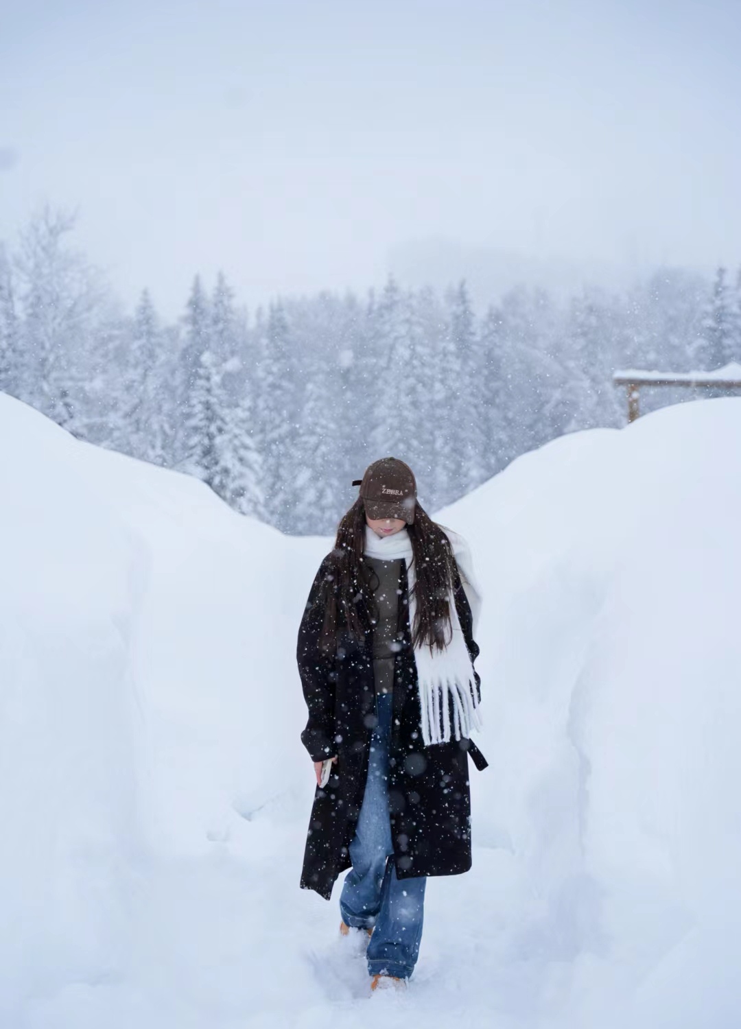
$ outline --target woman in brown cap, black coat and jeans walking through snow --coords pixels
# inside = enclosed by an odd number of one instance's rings
[[[328,900],[352,865],[340,929],[367,933],[376,989],[414,970],[426,877],[470,867],[480,599],[465,542],[425,513],[407,464],[383,458],[353,485],[298,631],[318,784],[301,885]]]

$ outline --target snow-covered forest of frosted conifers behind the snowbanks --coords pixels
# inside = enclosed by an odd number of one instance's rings
[[[167,322],[146,289],[123,311],[74,218],[46,209],[0,247],[0,390],[311,534],[331,530],[380,454],[412,464],[434,510],[555,436],[622,425],[617,367],[741,361],[741,275],[724,269],[714,282],[659,270],[567,304],[526,285],[492,299],[474,311],[465,282],[440,295],[389,279],[248,310],[223,275],[197,275]]]

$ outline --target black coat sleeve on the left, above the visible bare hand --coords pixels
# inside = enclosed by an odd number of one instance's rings
[[[298,627],[296,661],[304,689],[304,699],[309,708],[309,720],[302,733],[302,743],[313,761],[323,761],[337,753],[334,744],[334,659],[323,654],[319,647],[324,607],[320,592],[324,579],[329,574],[329,561],[322,561],[304,616]]]

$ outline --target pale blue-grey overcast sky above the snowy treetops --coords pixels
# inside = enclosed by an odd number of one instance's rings
[[[0,0],[0,238],[131,301],[362,287],[407,241],[741,263],[739,0]]]

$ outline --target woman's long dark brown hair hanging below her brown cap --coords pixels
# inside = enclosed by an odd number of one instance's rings
[[[414,646],[427,644],[443,650],[453,636],[450,596],[455,576],[455,558],[450,540],[422,505],[415,503],[415,518],[407,526],[412,542],[416,576],[417,614],[412,626]],[[332,565],[318,602],[324,605],[321,649],[334,651],[338,631],[345,628],[356,639],[368,632],[374,609],[373,588],[363,561],[365,506],[358,497],[338,526]]]

